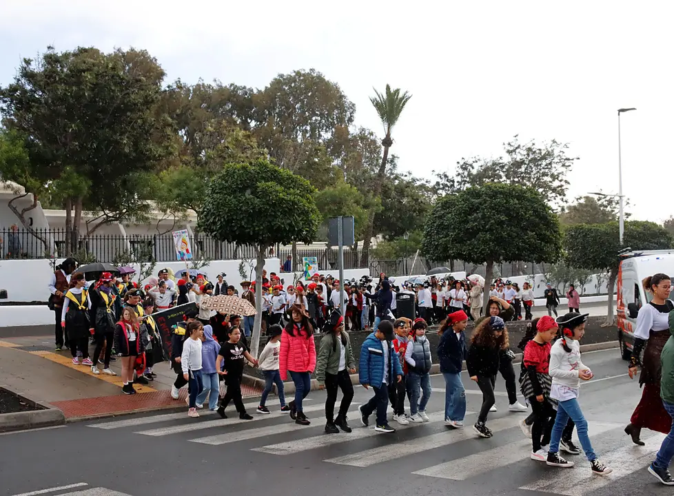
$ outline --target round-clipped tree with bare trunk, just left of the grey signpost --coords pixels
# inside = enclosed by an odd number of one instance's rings
[[[221,242],[256,248],[253,356],[260,344],[265,251],[276,243],[312,242],[320,224],[315,194],[309,181],[264,160],[227,164],[208,185],[199,229]]]

